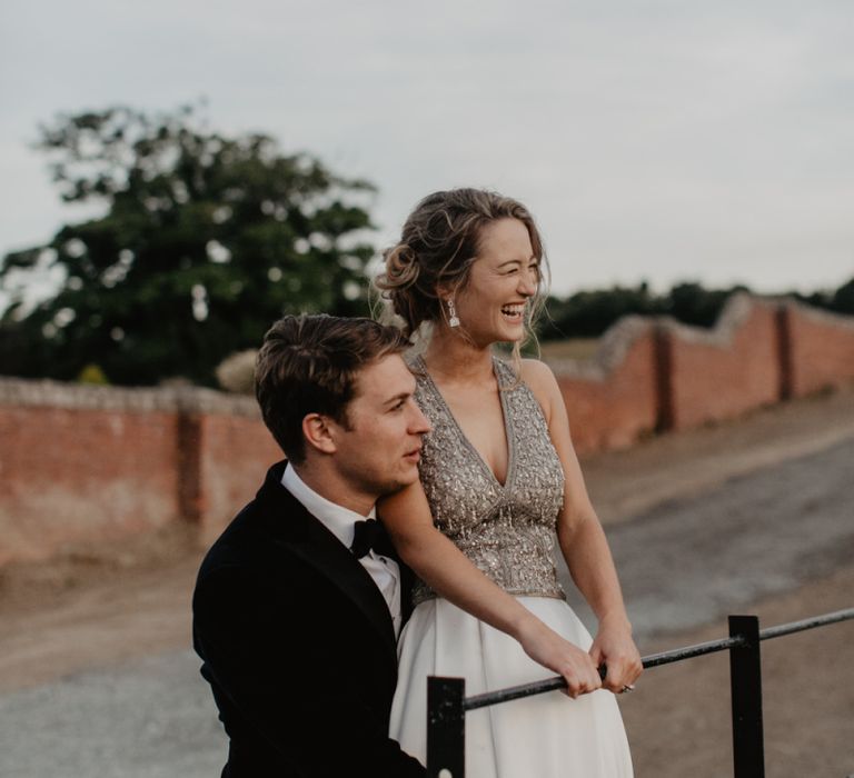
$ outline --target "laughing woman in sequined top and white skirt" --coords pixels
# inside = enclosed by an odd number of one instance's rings
[[[429,675],[465,677],[476,695],[557,672],[569,698],[555,691],[467,714],[466,774],[622,778],[632,760],[612,692],[633,688],[640,658],[557,381],[518,356],[543,262],[524,206],[457,189],[416,207],[377,279],[407,335],[431,326],[410,365],[433,426],[420,482],[379,507],[420,579],[390,734],[426,761]],[[512,361],[494,356],[497,342],[514,343]],[[595,639],[565,601],[555,538],[597,617]]]

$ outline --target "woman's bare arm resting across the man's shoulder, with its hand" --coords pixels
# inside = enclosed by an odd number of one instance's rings
[[[570,697],[602,686],[589,655],[489,580],[434,527],[420,482],[384,498],[378,512],[400,558],[428,586],[475,618],[518,640],[532,659],[566,679]]]

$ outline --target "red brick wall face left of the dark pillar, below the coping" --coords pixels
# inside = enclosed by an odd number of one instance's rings
[[[0,407],[0,563],[176,521],[175,417]]]

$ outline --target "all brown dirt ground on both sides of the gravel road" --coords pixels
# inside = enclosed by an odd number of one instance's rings
[[[854,437],[854,391],[588,457],[606,527],[661,502]],[[186,648],[202,550],[180,528],[143,541],[0,570],[0,694],[125,659]],[[854,605],[854,561],[752,604],[763,626]],[[659,635],[651,654],[726,635],[726,625]],[[763,644],[768,776],[854,774],[854,622]],[[620,699],[639,777],[732,775],[728,665],[714,655],[645,674]],[[843,746],[841,746],[843,744]]]

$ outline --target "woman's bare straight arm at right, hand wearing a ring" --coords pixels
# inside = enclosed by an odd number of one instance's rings
[[[543,362],[525,360],[523,379],[543,407],[552,442],[564,468],[566,486],[557,538],[569,573],[599,622],[590,656],[597,665],[607,665],[605,688],[620,691],[635,681],[643,666],[632,639],[632,624],[623,604],[614,559],[573,447],[564,398],[552,370]]]

